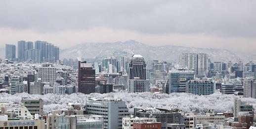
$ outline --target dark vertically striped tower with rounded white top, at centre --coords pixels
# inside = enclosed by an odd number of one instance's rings
[[[146,80],[146,63],[141,55],[133,55],[129,63],[129,79]]]

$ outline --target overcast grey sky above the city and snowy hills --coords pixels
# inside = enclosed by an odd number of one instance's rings
[[[256,52],[256,0],[0,0],[0,47],[130,39]]]

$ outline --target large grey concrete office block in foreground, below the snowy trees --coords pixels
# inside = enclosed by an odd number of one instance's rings
[[[125,101],[92,99],[86,101],[86,113],[104,117],[104,129],[122,129],[122,118],[129,116]]]

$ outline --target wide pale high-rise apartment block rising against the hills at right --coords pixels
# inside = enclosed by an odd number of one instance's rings
[[[207,76],[209,68],[209,57],[207,54],[181,54],[179,56],[180,67],[196,71],[198,76]]]

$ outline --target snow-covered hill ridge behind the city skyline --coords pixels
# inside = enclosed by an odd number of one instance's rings
[[[125,42],[113,43],[85,43],[76,45],[74,47],[60,51],[60,58],[102,58],[113,55],[114,53],[127,53],[128,55],[140,54],[147,60],[165,60],[175,61],[181,53],[207,53],[210,55],[212,61],[252,61],[252,56],[244,56],[235,54],[225,49],[213,48],[194,48],[194,47],[181,47],[181,46],[149,46],[128,40]]]

